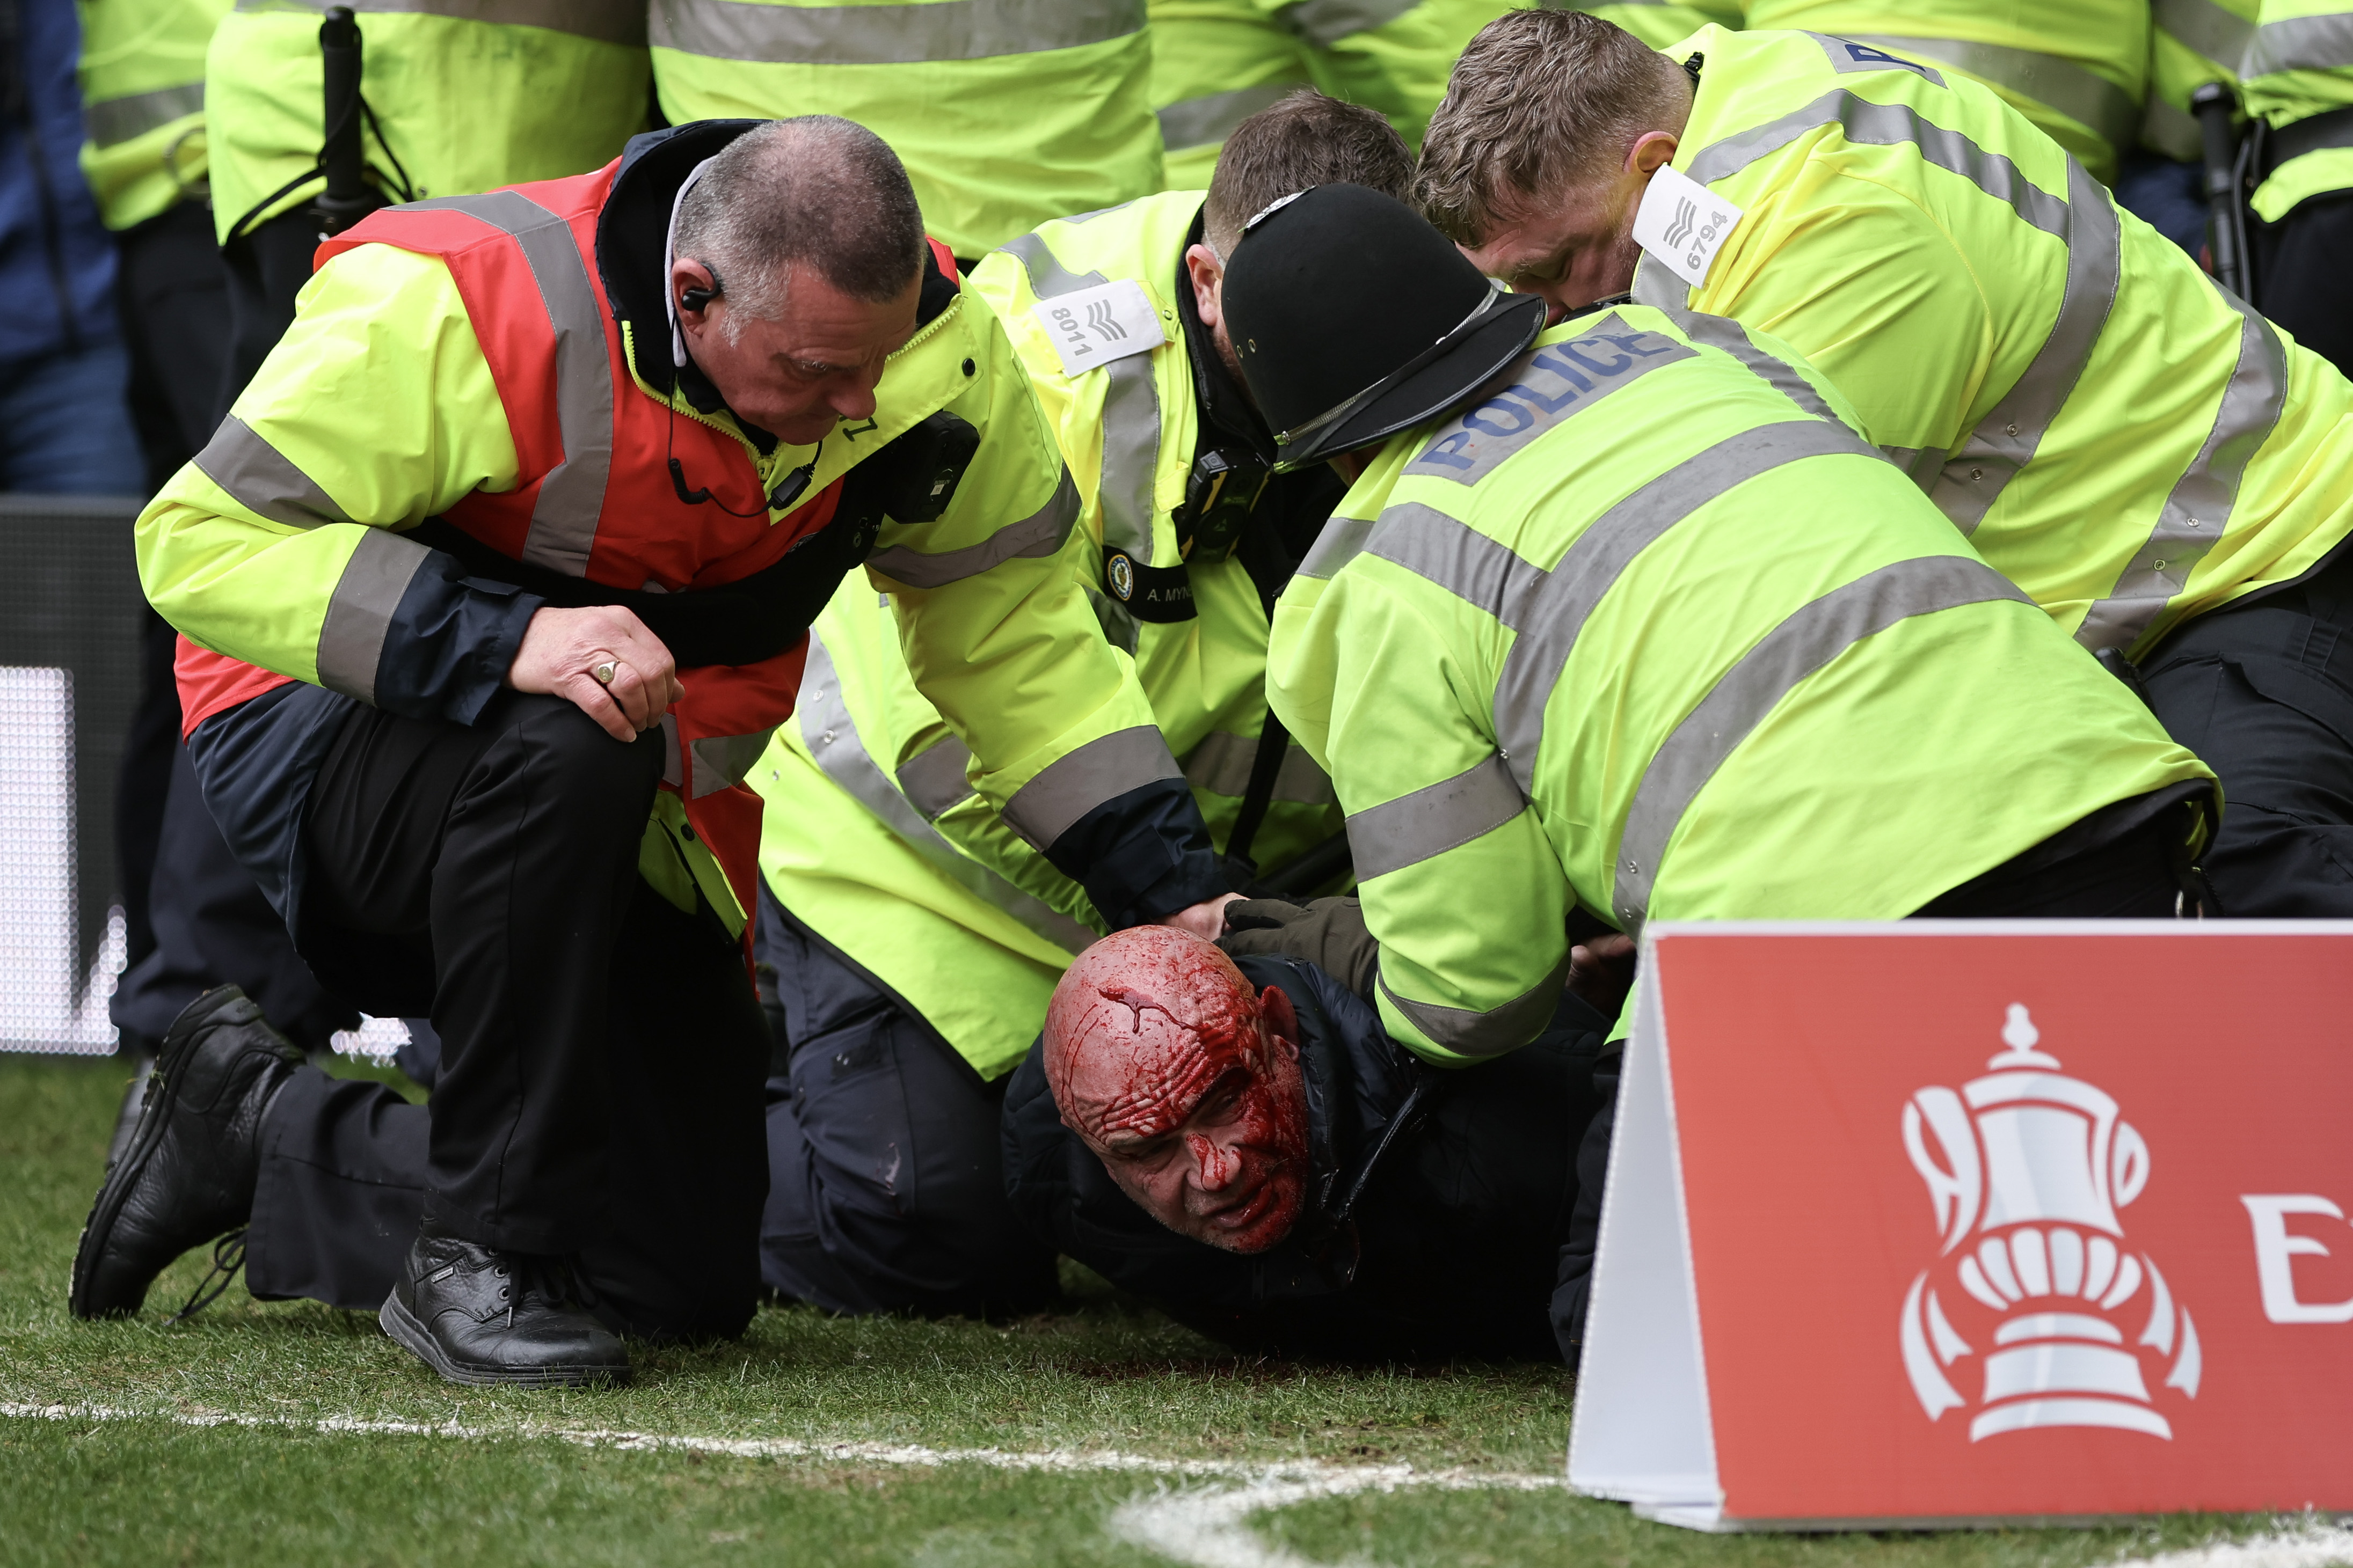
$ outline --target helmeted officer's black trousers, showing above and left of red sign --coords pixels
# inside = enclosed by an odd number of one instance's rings
[[[1929,900],[1918,914],[1941,919],[2172,919],[2184,896],[2162,818],[2111,844],[2042,867],[2033,877],[2002,877],[2002,867]],[[2228,907],[2228,905],[2224,905]],[[1624,1044],[1624,1041],[1621,1041]],[[1593,1070],[1600,1107],[1577,1147],[1577,1213],[1560,1248],[1560,1281],[1553,1291],[1553,1333],[1560,1354],[1577,1366],[1586,1338],[1586,1305],[1593,1298],[1593,1253],[1602,1229],[1602,1182],[1609,1175],[1609,1135],[1617,1126],[1617,1088],[1624,1053],[1605,1046]]]

